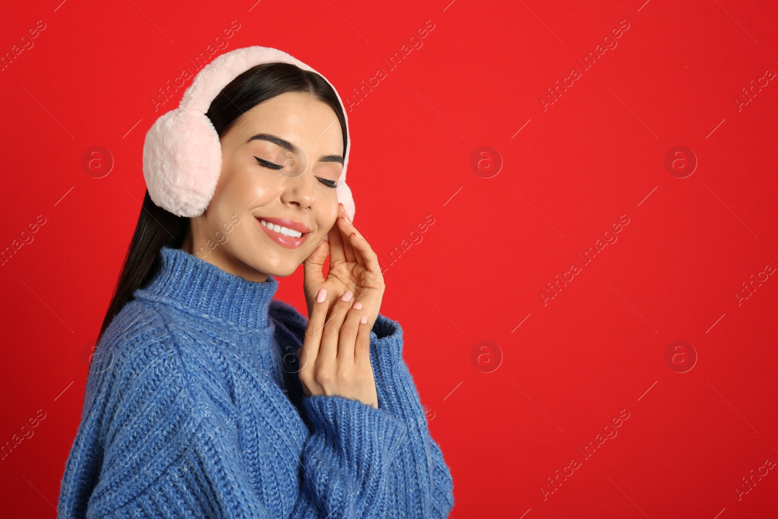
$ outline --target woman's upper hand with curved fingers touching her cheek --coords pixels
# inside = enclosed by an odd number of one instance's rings
[[[324,260],[330,256],[330,268],[324,279]],[[328,233],[328,240],[321,244],[303,261],[305,279],[303,290],[308,306],[308,318],[313,315],[314,299],[320,289],[330,294],[328,311],[347,290],[354,299],[363,304],[369,329],[373,329],[378,318],[381,300],[384,299],[384,275],[378,265],[378,256],[370,244],[357,232],[349,221],[343,204],[338,202],[338,219]]]

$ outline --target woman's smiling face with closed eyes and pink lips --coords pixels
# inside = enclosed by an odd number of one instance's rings
[[[216,191],[191,219],[184,250],[250,281],[291,275],[338,216],[343,135],[335,111],[307,93],[282,93],[220,140]]]

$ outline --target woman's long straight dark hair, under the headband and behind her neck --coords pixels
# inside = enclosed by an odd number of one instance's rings
[[[347,149],[349,136],[345,115],[335,90],[321,75],[290,63],[263,63],[249,68],[222,89],[205,115],[221,139],[245,112],[286,92],[308,93],[335,110],[343,132],[343,149]],[[180,248],[189,232],[189,218],[157,206],[146,190],[138,225],[135,226],[97,342],[100,342],[114,316],[133,299],[135,290],[148,285],[159,271],[159,251],[163,245]]]

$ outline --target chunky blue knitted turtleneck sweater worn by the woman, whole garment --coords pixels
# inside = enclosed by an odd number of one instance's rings
[[[250,282],[163,247],[95,350],[58,517],[447,517],[400,324],[379,314],[379,408],[303,395],[307,318]]]

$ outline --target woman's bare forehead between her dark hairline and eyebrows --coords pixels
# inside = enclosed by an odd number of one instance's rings
[[[268,133],[301,148],[342,153],[343,134],[338,117],[327,103],[310,94],[286,92],[247,110],[233,127],[241,139]]]

